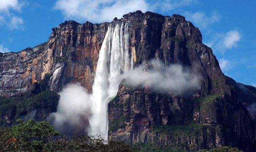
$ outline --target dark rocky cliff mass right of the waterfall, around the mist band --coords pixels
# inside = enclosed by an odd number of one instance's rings
[[[182,142],[188,151],[223,145],[245,151],[255,148],[255,123],[242,104],[248,101],[241,98],[237,83],[222,73],[211,48],[202,43],[198,28],[180,15],[137,11],[123,17],[131,24],[135,66],[145,60],[161,60],[165,66],[182,64],[199,73],[200,89],[181,95],[161,93],[142,86],[134,88],[124,80],[108,105],[109,140],[162,146]],[[163,125],[188,129],[193,123],[202,125],[193,136],[157,129]]]

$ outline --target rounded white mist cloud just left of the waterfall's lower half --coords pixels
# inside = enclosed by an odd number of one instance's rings
[[[85,133],[89,129],[91,98],[79,83],[68,84],[61,92],[56,113],[49,115],[49,121],[61,134]]]

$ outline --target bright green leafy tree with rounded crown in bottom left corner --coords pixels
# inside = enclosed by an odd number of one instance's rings
[[[4,138],[5,142],[8,141],[7,139],[16,139],[16,145],[9,146],[8,151],[15,151],[16,147],[19,151],[41,151],[52,140],[53,136],[59,135],[59,132],[48,122],[35,122],[33,119],[29,119],[27,122],[21,119],[17,121],[19,122],[18,125],[1,132],[1,137]],[[2,148],[3,145],[2,143]]]

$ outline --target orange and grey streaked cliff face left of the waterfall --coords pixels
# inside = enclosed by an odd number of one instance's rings
[[[109,23],[61,23],[49,40],[18,53],[0,54],[0,94],[15,96],[49,74],[50,90],[57,92],[69,82],[92,90],[98,54]]]

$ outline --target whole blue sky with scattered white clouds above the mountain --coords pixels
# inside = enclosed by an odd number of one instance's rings
[[[185,16],[223,73],[256,87],[256,0],[0,0],[0,52],[46,42],[65,20],[111,22],[136,10]]]

